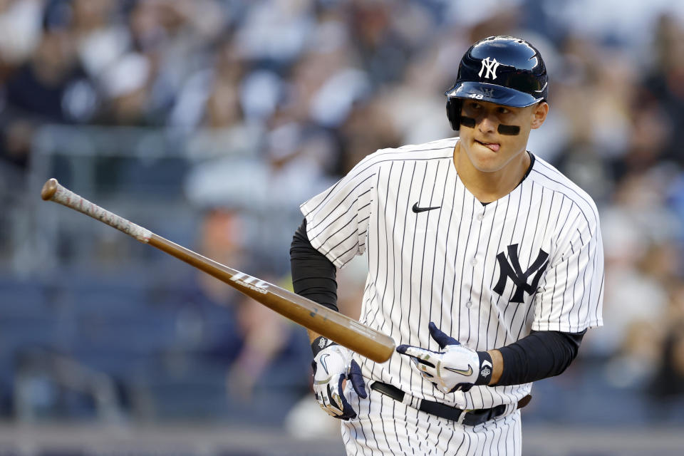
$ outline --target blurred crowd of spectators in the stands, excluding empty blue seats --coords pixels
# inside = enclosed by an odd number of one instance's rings
[[[451,136],[443,93],[462,53],[522,36],[550,75],[551,111],[529,150],[601,212],[606,326],[589,331],[578,362],[600,360],[611,387],[682,398],[684,7],[474,3],[0,0],[0,170],[28,175],[46,124],[170,131],[188,159],[185,197],[209,208],[198,248],[286,282],[298,205],[380,147]],[[273,235],[255,236],[255,219]],[[348,280],[361,289],[363,274]],[[237,301],[211,279],[198,287]],[[357,311],[357,293],[342,299]],[[248,394],[291,326],[237,308],[229,382]]]

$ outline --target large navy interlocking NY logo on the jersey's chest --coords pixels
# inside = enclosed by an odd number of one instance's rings
[[[546,265],[549,264],[549,261],[546,261],[546,259],[549,258],[549,254],[544,252],[544,250],[539,249],[537,259],[535,259],[532,266],[529,266],[529,269],[524,272],[520,267],[520,261],[518,259],[518,244],[508,246],[508,257],[509,260],[506,259],[506,254],[504,252],[497,255],[501,275],[499,276],[497,286],[494,286],[494,291],[497,294],[503,294],[504,289],[506,288],[506,282],[510,278],[513,281],[513,284],[515,284],[516,289],[509,302],[524,302],[524,293],[532,294],[537,290],[541,274],[544,273]],[[537,274],[534,275],[532,283],[528,284],[527,278],[531,276],[534,271],[537,271]]]

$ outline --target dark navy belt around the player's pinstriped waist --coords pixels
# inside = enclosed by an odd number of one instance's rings
[[[383,393],[384,395],[387,395],[400,403],[404,402],[405,393],[396,386],[389,385],[388,383],[373,382],[371,384],[371,389],[376,390],[379,393]],[[519,400],[517,403],[517,408],[523,408],[529,403],[530,400],[532,400],[532,396],[529,394],[526,395],[524,398]],[[419,402],[420,403],[418,403],[418,407],[415,408],[418,408],[418,410],[422,412],[430,413],[431,415],[456,421],[459,424],[468,426],[480,425],[486,421],[492,420],[493,418],[497,418],[498,416],[506,413],[506,409],[508,407],[508,405],[502,404],[493,408],[462,410],[460,408],[451,407],[450,405],[445,405],[432,400],[420,400]]]

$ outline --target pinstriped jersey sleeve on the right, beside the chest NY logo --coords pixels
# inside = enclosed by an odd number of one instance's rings
[[[598,215],[574,207],[541,281],[532,329],[579,333],[603,326],[603,243]]]

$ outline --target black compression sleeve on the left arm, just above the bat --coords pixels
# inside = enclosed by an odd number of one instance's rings
[[[294,292],[337,311],[337,268],[314,249],[306,235],[306,218],[294,232],[290,245]]]

